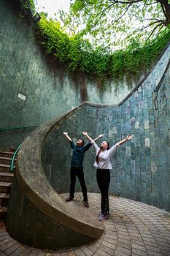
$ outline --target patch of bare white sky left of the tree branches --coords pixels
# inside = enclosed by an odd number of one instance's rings
[[[70,0],[34,0],[36,12],[47,12],[48,17],[55,18],[55,12],[59,9],[69,10]]]

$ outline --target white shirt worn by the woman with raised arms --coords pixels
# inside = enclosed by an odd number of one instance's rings
[[[97,155],[100,148],[97,146],[94,140],[92,140],[91,143],[96,149],[96,155]],[[98,156],[98,162],[95,161],[94,166],[97,167],[98,169],[112,169],[110,158],[112,157],[112,155],[115,153],[115,151],[119,146],[120,145],[116,143],[114,146],[112,146],[112,148],[109,148],[109,150],[105,149],[104,151],[101,151]]]

